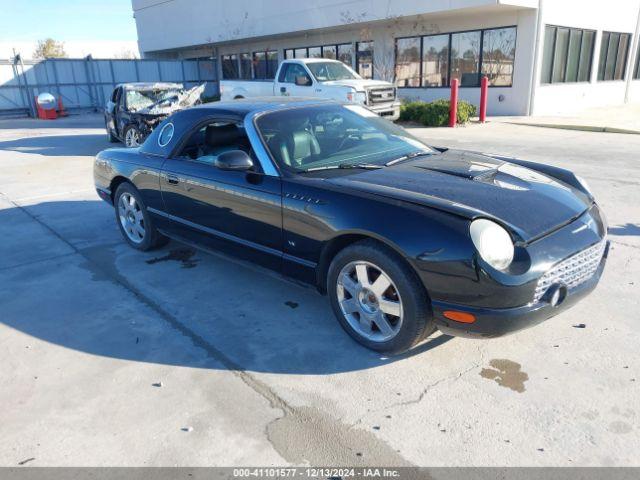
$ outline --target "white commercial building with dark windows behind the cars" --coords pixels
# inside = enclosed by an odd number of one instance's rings
[[[336,56],[401,97],[544,115],[640,102],[640,0],[132,0],[140,51],[218,59],[219,78]]]

